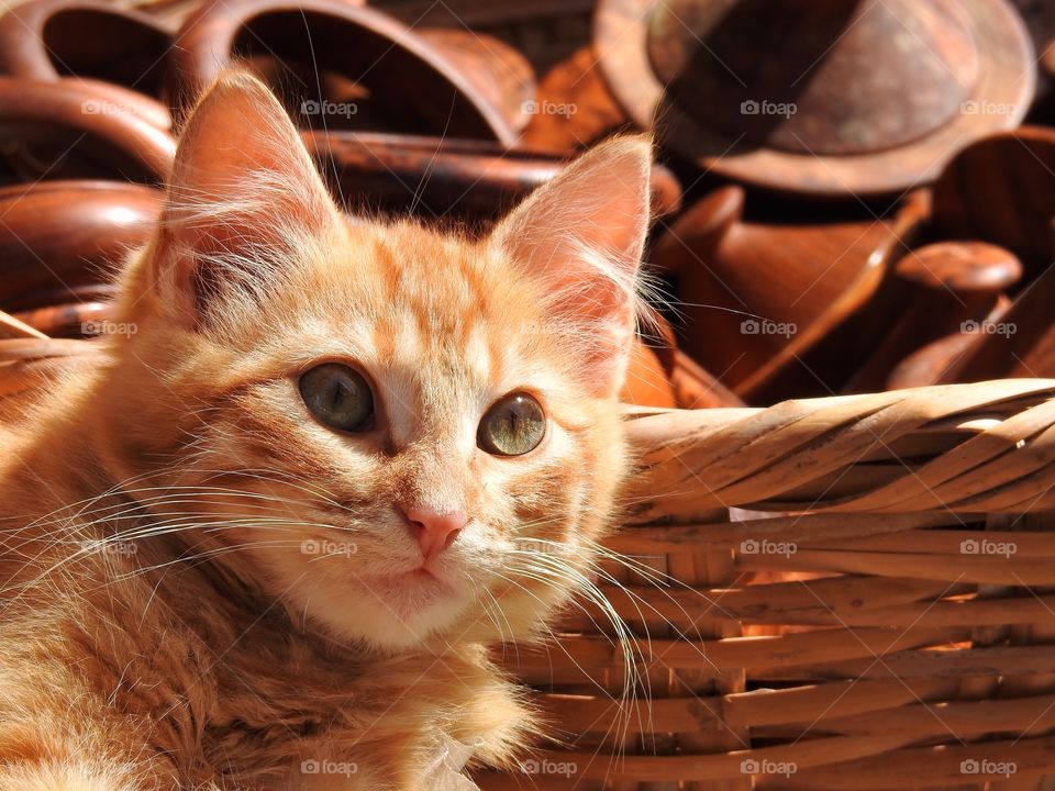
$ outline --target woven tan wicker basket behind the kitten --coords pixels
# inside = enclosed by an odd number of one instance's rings
[[[0,342],[0,394],[91,348]],[[1052,787],[1053,394],[629,408],[641,469],[609,547],[635,570],[600,587],[637,639],[584,603],[552,645],[504,647],[564,744],[480,784]]]

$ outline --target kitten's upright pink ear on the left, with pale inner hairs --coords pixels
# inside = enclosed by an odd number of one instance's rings
[[[180,136],[152,281],[184,324],[252,307],[340,212],[286,110],[264,83],[221,75]]]

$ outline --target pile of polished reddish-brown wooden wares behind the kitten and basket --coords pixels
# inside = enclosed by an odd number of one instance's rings
[[[0,332],[112,331],[109,272],[232,62],[348,211],[484,233],[656,138],[668,304],[628,400],[1055,376],[1051,0],[31,0],[0,5]]]

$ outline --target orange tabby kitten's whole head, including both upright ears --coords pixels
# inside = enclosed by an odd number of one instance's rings
[[[470,243],[342,219],[263,90],[227,78],[200,105],[126,277],[125,471],[187,487],[188,543],[307,628],[522,636],[587,571],[624,472],[647,147],[595,154]],[[218,155],[210,134],[254,110],[267,132]]]

